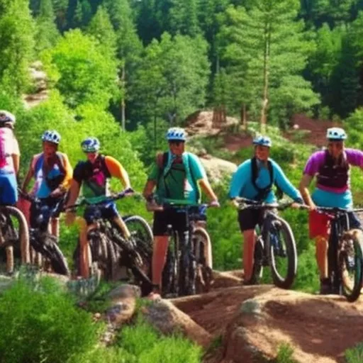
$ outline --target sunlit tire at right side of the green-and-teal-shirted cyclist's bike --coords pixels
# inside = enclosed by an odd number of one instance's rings
[[[194,255],[196,258],[196,294],[203,294],[211,290],[213,283],[213,271],[207,266],[205,246],[211,241],[208,232],[204,228],[196,228],[193,232]]]

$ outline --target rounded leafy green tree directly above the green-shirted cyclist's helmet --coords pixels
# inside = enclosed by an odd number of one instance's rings
[[[207,44],[201,37],[164,33],[145,50],[131,98],[146,120],[164,118],[180,124],[206,100]]]

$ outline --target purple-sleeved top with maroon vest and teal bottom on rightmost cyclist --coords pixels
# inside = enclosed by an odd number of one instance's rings
[[[318,179],[318,184],[311,195],[313,202],[317,206],[352,208],[349,165],[363,167],[363,152],[355,149],[345,149],[344,157],[348,165],[339,167],[340,177],[336,179],[332,177],[330,181],[326,181],[325,176],[330,175],[329,168],[334,169],[335,166],[331,165],[325,168],[327,161],[325,150],[314,152],[309,157],[303,174],[308,174],[311,177],[316,176]],[[346,168],[346,171],[344,168]],[[321,173],[323,173],[323,177],[321,177]]]

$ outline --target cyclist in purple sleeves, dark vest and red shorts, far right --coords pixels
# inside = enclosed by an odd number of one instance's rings
[[[310,237],[315,238],[316,261],[320,272],[320,294],[330,294],[328,280],[329,218],[315,211],[316,206],[353,207],[350,191],[350,165],[363,168],[363,152],[345,147],[347,134],[342,128],[328,128],[326,150],[314,152],[309,157],[300,182],[303,199],[311,207],[309,214]],[[316,187],[311,195],[308,186],[316,177]],[[349,213],[350,226],[359,228],[354,213]]]

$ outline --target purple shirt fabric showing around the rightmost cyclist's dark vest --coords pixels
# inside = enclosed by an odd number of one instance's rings
[[[345,149],[345,157],[347,158],[347,162],[350,165],[354,165],[354,167],[363,167],[363,152],[356,149]],[[303,174],[311,175],[311,177],[315,177],[315,174],[318,173],[320,167],[325,162],[325,150],[314,152],[311,157],[309,157],[308,162],[306,163],[305,169],[303,170]],[[350,180],[348,179],[347,186],[343,188],[331,188],[328,186],[317,185],[319,189],[323,189],[325,191],[333,191],[335,193],[342,193],[349,189]]]

